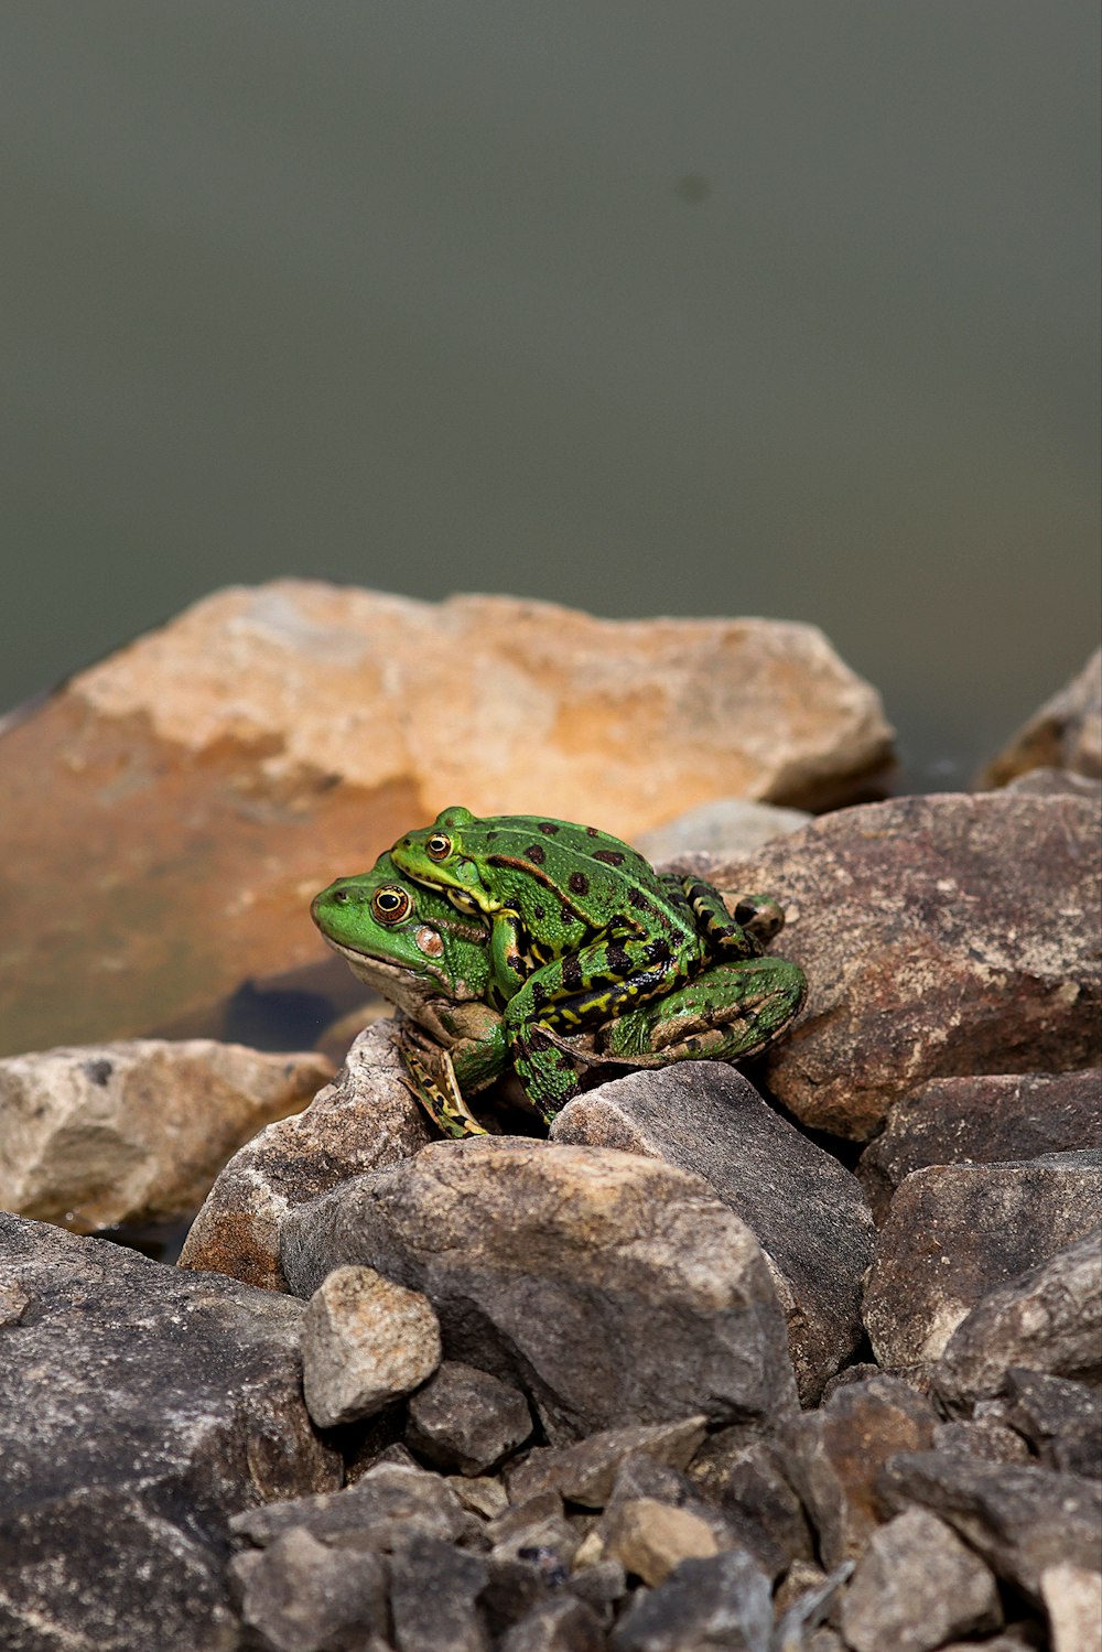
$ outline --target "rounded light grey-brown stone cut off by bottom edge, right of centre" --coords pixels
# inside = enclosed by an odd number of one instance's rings
[[[841,1604],[843,1637],[854,1652],[932,1652],[950,1635],[1001,1622],[991,1571],[925,1508],[909,1508],[872,1533]]]

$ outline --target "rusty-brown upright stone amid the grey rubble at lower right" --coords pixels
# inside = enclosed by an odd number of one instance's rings
[[[907,1383],[874,1376],[836,1389],[819,1411],[785,1427],[785,1474],[815,1525],[826,1566],[856,1559],[887,1520],[877,1474],[895,1452],[927,1447],[935,1421]]]

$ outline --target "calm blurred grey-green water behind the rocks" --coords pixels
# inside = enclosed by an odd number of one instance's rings
[[[967,780],[1099,624],[1094,0],[5,0],[0,709],[228,582],[821,624]]]

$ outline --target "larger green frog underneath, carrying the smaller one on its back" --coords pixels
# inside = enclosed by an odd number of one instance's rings
[[[709,885],[709,905],[722,897]],[[671,879],[672,892],[682,894]],[[783,912],[772,897],[743,897],[750,933],[775,933]],[[502,1014],[489,1003],[491,932],[481,915],[458,914],[439,892],[403,879],[388,854],[370,872],[340,877],[311,904],[322,935],[352,971],[397,1003],[410,1089],[446,1135],[486,1133],[466,1097],[511,1067]],[[686,986],[593,1028],[549,1032],[572,1070],[593,1062],[666,1067],[676,1061],[747,1057],[772,1042],[803,1003],[803,971],[783,958],[719,963]],[[415,1031],[416,1029],[416,1031]]]

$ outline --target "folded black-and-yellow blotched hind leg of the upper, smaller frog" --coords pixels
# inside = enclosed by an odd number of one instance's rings
[[[512,1064],[529,1100],[550,1120],[578,1094],[575,1062],[555,1034],[583,1032],[684,983],[699,963],[666,937],[601,940],[529,976],[506,1006]]]

